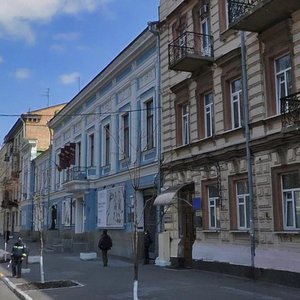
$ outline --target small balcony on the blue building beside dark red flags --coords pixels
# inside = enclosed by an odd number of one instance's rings
[[[63,183],[67,192],[83,192],[89,188],[89,180],[95,179],[96,167],[73,166],[67,169]]]

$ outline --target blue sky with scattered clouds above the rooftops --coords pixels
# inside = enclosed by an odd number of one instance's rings
[[[159,0],[0,0],[0,144],[22,113],[69,102],[146,27]]]

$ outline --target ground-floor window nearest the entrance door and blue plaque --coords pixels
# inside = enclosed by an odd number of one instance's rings
[[[220,228],[219,194],[216,186],[208,186],[209,228]]]

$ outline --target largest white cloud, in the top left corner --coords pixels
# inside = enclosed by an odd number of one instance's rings
[[[34,43],[34,23],[50,22],[59,14],[76,15],[97,8],[105,11],[111,1],[114,0],[1,0],[0,38],[24,39]]]

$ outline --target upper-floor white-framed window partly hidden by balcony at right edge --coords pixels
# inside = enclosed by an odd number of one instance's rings
[[[280,114],[280,99],[292,93],[290,55],[275,60],[275,77],[277,114]]]

